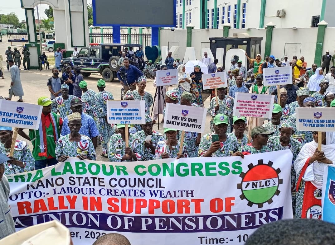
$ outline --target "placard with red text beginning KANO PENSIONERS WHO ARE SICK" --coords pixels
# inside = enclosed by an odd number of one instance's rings
[[[236,93],[232,114],[240,117],[271,118],[274,95]]]

